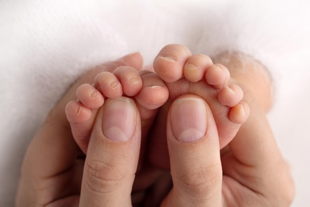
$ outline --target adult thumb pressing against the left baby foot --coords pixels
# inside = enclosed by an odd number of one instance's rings
[[[141,123],[133,100],[108,99],[100,109],[85,160],[80,207],[131,207]]]

